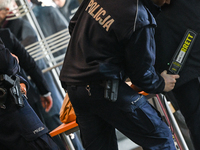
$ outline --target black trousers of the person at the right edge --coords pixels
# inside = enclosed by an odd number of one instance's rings
[[[190,130],[196,150],[200,149],[200,84],[193,79],[173,90],[181,113]]]

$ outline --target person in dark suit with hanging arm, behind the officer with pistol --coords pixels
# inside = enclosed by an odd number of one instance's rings
[[[52,109],[52,105],[55,105],[55,103],[51,101],[51,96],[48,96],[46,98],[40,96],[40,94],[45,95],[50,91],[49,86],[47,85],[47,81],[45,80],[46,78],[42,74],[40,68],[36,65],[34,59],[29,55],[29,53],[25,50],[22,44],[20,44],[20,42],[10,32],[9,29],[0,29],[0,38],[4,42],[5,47],[8,48],[9,51],[12,54],[16,55],[19,59],[20,72],[18,74],[22,76],[29,84],[29,89],[27,90],[28,103],[46,126],[46,119],[44,121],[43,117],[48,116],[49,124],[54,126],[54,128],[52,129],[47,126],[49,130],[55,129],[56,124],[60,122],[59,114],[55,117],[57,119],[53,120],[53,117],[49,116],[49,113],[47,113],[49,112],[49,110]],[[28,77],[30,77],[31,80],[28,80]],[[35,86],[37,87],[37,89],[35,89]],[[55,97],[55,100],[57,100],[57,98],[58,97]],[[51,111],[55,113],[55,110]],[[53,137],[53,140],[56,142],[61,150],[66,149],[66,146],[59,136]]]

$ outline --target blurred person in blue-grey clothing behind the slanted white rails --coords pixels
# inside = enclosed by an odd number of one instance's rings
[[[27,1],[33,10],[45,38],[67,29],[69,23],[57,8],[53,6],[41,6],[42,2],[36,0],[34,0],[34,3],[32,3],[31,0]],[[67,45],[67,41],[65,41],[65,45]],[[51,45],[51,47],[53,46],[54,45]],[[52,55],[56,58],[65,54],[66,50],[67,48],[65,47],[62,50],[52,53]],[[44,69],[44,67],[41,67],[41,69]]]

